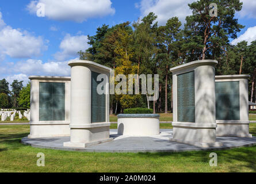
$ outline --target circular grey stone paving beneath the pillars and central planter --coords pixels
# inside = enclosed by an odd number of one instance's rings
[[[114,140],[86,148],[63,147],[63,143],[70,141],[70,137],[49,137],[40,139],[28,139],[28,137],[24,137],[21,141],[23,144],[37,148],[83,152],[179,152],[226,150],[256,145],[256,137],[217,137],[217,141],[223,143],[222,147],[201,148],[194,145],[169,141],[169,139],[173,137],[172,129],[161,129],[160,135],[147,137],[120,136],[117,135],[117,129],[110,129],[110,137]]]

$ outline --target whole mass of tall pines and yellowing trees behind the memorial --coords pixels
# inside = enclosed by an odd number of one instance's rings
[[[217,17],[209,15],[210,3],[217,4]],[[80,59],[111,67],[115,76],[159,75],[157,101],[148,101],[148,95],[115,94],[110,97],[111,112],[114,107],[116,113],[120,113],[123,109],[144,107],[146,104],[154,112],[170,112],[173,99],[169,69],[198,59],[217,60],[216,75],[250,74],[250,101],[256,101],[256,41],[250,45],[246,41],[230,44],[230,40],[244,28],[235,18],[235,13],[242,9],[242,2],[199,0],[188,6],[192,15],[186,17],[184,26],[177,17],[170,17],[165,25],[159,26],[157,16],[151,12],[132,25],[124,22],[110,28],[104,24],[94,36],[88,36],[91,47],[78,52]]]

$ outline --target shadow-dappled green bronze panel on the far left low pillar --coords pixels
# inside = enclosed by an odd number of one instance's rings
[[[65,121],[65,83],[39,83],[39,121]]]

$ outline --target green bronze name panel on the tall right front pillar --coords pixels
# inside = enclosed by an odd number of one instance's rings
[[[194,71],[177,75],[177,111],[179,122],[195,122]]]

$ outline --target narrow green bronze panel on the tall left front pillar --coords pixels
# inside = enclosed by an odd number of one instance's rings
[[[101,83],[97,81],[98,75],[91,72],[91,122],[106,122],[106,94],[97,93],[97,86]]]

